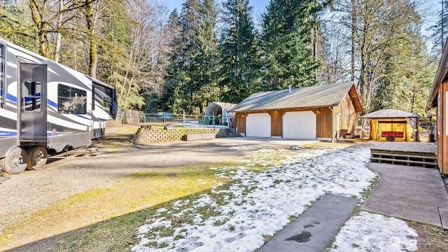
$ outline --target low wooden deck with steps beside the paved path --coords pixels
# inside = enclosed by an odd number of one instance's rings
[[[371,162],[437,168],[437,144],[386,142],[370,148]]]

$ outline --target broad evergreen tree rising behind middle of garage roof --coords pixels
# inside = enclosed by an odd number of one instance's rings
[[[262,15],[265,89],[316,84],[319,64],[314,59],[311,33],[318,27],[318,13],[328,3],[316,0],[269,1],[266,13]]]

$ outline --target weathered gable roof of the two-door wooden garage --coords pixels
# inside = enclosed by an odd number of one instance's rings
[[[273,109],[316,108],[338,106],[349,93],[356,112],[362,112],[358,92],[352,81],[337,84],[316,85],[258,92],[233,107],[230,111],[260,111]]]

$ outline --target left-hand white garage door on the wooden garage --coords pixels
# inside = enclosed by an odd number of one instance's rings
[[[271,137],[271,116],[268,113],[248,114],[246,137]]]

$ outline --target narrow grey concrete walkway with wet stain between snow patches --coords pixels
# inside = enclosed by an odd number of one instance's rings
[[[356,198],[327,194],[267,241],[258,252],[323,251],[358,202]]]

